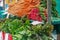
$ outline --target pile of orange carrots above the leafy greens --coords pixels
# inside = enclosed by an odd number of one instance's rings
[[[10,4],[8,12],[10,14],[22,17],[30,13],[33,8],[40,5],[40,0],[19,0],[15,4]]]

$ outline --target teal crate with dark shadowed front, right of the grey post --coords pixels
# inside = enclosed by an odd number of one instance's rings
[[[52,17],[52,24],[54,25],[54,30],[57,34],[60,34],[60,18]]]

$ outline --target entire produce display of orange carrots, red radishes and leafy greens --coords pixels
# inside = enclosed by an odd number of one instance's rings
[[[52,16],[57,17],[54,0],[52,5]],[[13,40],[52,40],[53,25],[47,22],[47,0],[19,0],[9,4],[8,12],[14,16],[1,19],[0,30],[10,33]],[[34,21],[44,24],[31,24]]]

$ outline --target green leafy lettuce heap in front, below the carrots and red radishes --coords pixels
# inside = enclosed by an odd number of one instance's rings
[[[0,22],[0,29],[10,33],[13,40],[52,40],[53,26],[46,24],[32,25],[30,20],[5,19]]]

